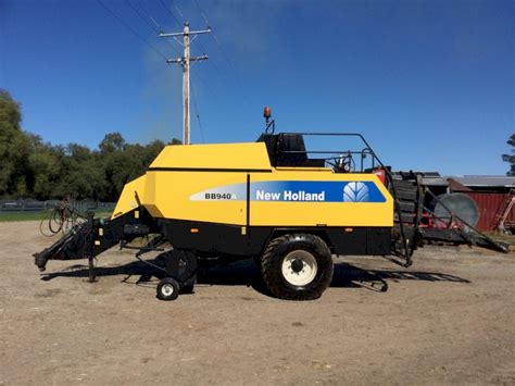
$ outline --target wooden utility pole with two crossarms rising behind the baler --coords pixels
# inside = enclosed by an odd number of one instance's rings
[[[185,26],[181,33],[160,33],[159,36],[163,38],[173,37],[175,40],[179,42],[184,47],[184,57],[179,59],[168,59],[166,63],[174,63],[183,65],[183,114],[184,114],[184,123],[183,123],[183,145],[190,144],[190,98],[189,98],[189,69],[190,62],[198,62],[202,60],[208,60],[208,55],[202,57],[191,57],[190,55],[190,43],[193,41],[198,35],[201,34],[210,34],[211,28],[203,30],[189,30],[189,23],[185,22]],[[177,36],[183,36],[183,42],[177,39]],[[190,40],[190,36],[193,38]]]

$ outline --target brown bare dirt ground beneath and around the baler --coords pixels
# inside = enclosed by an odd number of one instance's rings
[[[515,256],[426,247],[409,270],[337,260],[315,301],[260,291],[250,262],[210,270],[193,295],[114,248],[49,262],[38,223],[0,223],[0,384],[515,384]],[[258,284],[256,284],[258,283]]]

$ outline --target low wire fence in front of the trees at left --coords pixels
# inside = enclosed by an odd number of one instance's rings
[[[54,209],[60,200],[0,200],[0,213],[2,212],[46,212]],[[95,212],[112,212],[115,202],[98,202],[88,200],[72,200],[71,206],[79,212],[87,212],[89,210]]]

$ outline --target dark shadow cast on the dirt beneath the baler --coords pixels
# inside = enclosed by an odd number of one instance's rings
[[[154,266],[150,265],[154,264]],[[136,284],[149,283],[152,279],[163,277],[163,272],[158,267],[162,263],[159,260],[148,262],[135,261],[120,266],[101,266],[96,269],[96,275],[125,276],[122,282],[128,283],[133,276],[137,277]],[[42,281],[52,281],[56,277],[88,277],[87,265],[75,264],[64,271],[41,274]],[[335,264],[331,287],[341,288],[365,288],[378,292],[388,290],[388,283],[400,281],[423,282],[453,282],[470,283],[468,279],[439,272],[414,272],[414,271],[390,271],[390,270],[365,270],[349,263]],[[242,260],[228,265],[200,269],[197,278],[200,285],[229,285],[252,286],[255,290],[269,295],[263,284],[260,270],[252,260]]]

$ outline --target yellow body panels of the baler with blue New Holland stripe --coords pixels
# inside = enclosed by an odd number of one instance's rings
[[[349,184],[375,199],[346,200]],[[273,227],[393,226],[392,197],[376,175],[274,167],[264,142],[167,146],[145,176],[125,186],[113,219],[138,207],[136,192],[155,219]]]

